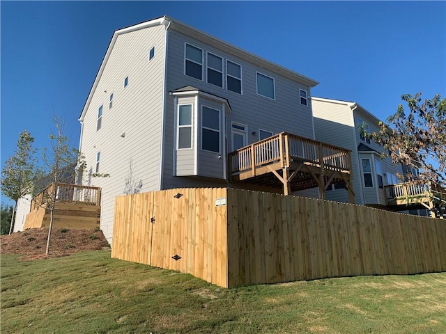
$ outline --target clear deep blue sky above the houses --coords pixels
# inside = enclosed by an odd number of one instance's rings
[[[385,120],[403,93],[446,96],[445,1],[1,1],[1,166],[24,129],[48,145],[79,114],[115,30],[169,15],[320,82]],[[2,197],[3,200],[3,197]]]

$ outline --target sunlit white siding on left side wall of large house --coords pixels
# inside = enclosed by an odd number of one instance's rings
[[[84,116],[80,150],[87,163],[85,175],[90,170],[95,173],[99,148],[100,173],[110,175],[90,180],[92,186],[102,188],[100,228],[109,242],[113,235],[114,198],[123,195],[130,159],[134,180],[143,184],[141,192],[160,189],[164,31],[165,26],[153,26],[117,36]],[[157,47],[150,66],[148,45]],[[126,77],[128,86],[123,89]],[[104,93],[106,90],[109,93]],[[107,106],[111,93],[114,112],[103,115],[107,123],[102,121],[103,129],[96,132],[98,106]],[[174,120],[170,126],[174,131]],[[89,180],[82,182],[88,183]]]

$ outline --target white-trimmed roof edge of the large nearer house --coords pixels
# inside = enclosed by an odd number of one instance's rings
[[[208,35],[207,33],[204,33],[203,31],[199,31],[198,29],[195,29],[192,26],[188,26],[187,24],[184,24],[182,22],[179,22],[176,19],[168,17],[167,15],[164,15],[163,17],[158,17],[157,19],[151,19],[150,21],[147,21],[147,22],[141,22],[139,24],[135,24],[134,26],[128,26],[126,28],[116,30],[113,33],[112,40],[110,40],[109,47],[107,48],[107,51],[105,52],[105,56],[102,59],[102,63],[99,67],[98,74],[96,74],[95,81],[93,81],[93,86],[91,86],[89,96],[87,97],[86,102],[84,104],[84,108],[82,109],[82,112],[79,116],[80,121],[82,121],[84,119],[86,110],[89,108],[91,98],[93,97],[93,93],[94,93],[96,87],[98,86],[98,82],[100,80],[100,77],[102,76],[102,72],[104,71],[105,64],[107,63],[108,58],[109,58],[110,54],[112,53],[112,49],[116,43],[116,39],[118,38],[118,35],[121,35],[123,33],[130,33],[132,31],[137,31],[140,29],[146,29],[151,26],[160,26],[160,25],[166,26],[166,29],[174,29],[176,31],[180,31],[181,33],[184,33],[185,35],[189,35],[191,37],[198,38],[199,40],[201,40],[203,42],[213,45],[219,49],[224,49],[224,51],[227,51],[231,54],[239,56],[240,58],[244,58],[247,61],[250,61],[253,63],[258,63],[262,68],[266,68],[267,70],[270,70],[272,72],[277,72],[277,73],[283,75],[284,77],[289,77],[293,80],[300,81],[309,87],[314,87],[317,84],[319,84],[318,81],[316,81],[314,79],[305,77],[302,74],[299,74],[297,72],[289,70],[288,68],[282,67],[281,65],[277,65],[276,63],[272,63],[271,61],[268,61],[264,58],[254,55],[248,51],[240,49],[239,47],[235,47],[235,46],[229,44],[228,42],[224,42],[224,40],[215,38],[212,35]]]

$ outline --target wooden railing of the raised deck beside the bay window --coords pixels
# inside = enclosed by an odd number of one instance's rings
[[[289,167],[291,162],[345,172],[351,168],[349,150],[286,132],[229,153],[231,175],[275,163]]]

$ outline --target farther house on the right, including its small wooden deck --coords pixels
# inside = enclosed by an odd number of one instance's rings
[[[311,100],[316,140],[351,150],[351,179],[356,204],[423,216],[429,214],[427,207],[432,208],[435,204],[429,193],[432,189],[400,180],[397,175],[406,175],[408,167],[392,164],[388,156],[383,158],[383,147],[362,136],[362,127],[367,132],[378,132],[378,118],[357,102],[321,97],[311,97]],[[326,198],[347,202],[346,192],[342,189],[344,184],[341,182],[331,184]],[[408,202],[408,196],[415,199]]]

